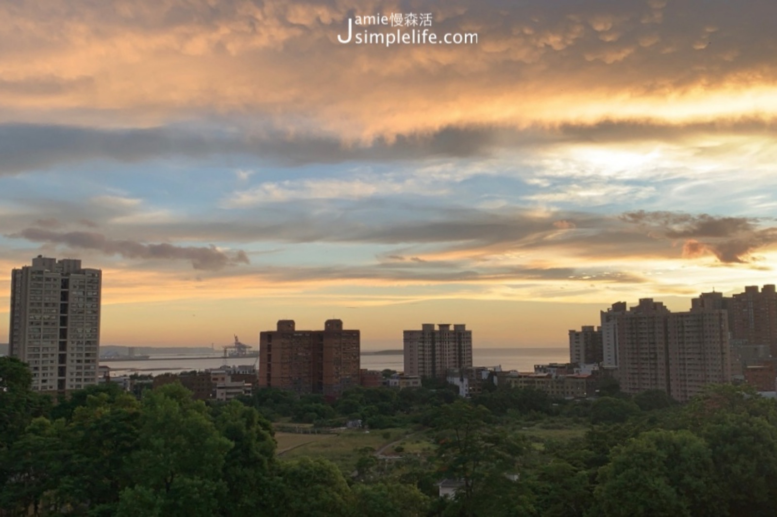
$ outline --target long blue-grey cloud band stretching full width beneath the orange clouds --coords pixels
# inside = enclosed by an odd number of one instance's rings
[[[0,124],[0,175],[17,174],[89,160],[122,162],[158,158],[202,159],[245,154],[279,165],[298,166],[345,161],[405,161],[424,158],[490,156],[496,151],[531,153],[556,144],[608,144],[624,141],[676,143],[702,134],[752,134],[777,137],[771,119],[716,120],[707,123],[658,123],[655,120],[605,120],[591,124],[535,124],[523,129],[498,125],[444,127],[397,134],[364,143],[280,129],[241,130],[215,123],[200,130],[177,126],[99,129],[36,124]],[[707,151],[709,152],[709,150]]]

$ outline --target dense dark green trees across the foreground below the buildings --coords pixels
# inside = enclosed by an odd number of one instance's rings
[[[775,401],[733,386],[683,406],[660,392],[607,393],[485,390],[464,401],[442,387],[354,388],[331,401],[260,390],[205,404],[178,384],[140,400],[106,384],[54,404],[30,390],[23,363],[0,358],[0,515],[774,514]],[[284,460],[279,420],[361,420],[429,449],[367,448],[353,471]],[[443,480],[458,484],[455,497],[439,497]]]

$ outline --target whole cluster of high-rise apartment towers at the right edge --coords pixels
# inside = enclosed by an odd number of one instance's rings
[[[663,390],[688,401],[707,384],[743,381],[775,390],[777,293],[748,286],[724,297],[702,293],[689,311],[671,312],[651,298],[601,312],[600,326],[570,331],[570,360],[597,364],[621,390]]]

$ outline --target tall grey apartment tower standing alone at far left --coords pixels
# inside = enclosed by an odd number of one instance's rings
[[[97,383],[102,272],[38,255],[11,276],[11,356],[30,366],[33,390]]]

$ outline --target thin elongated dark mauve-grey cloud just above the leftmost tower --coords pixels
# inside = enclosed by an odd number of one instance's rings
[[[126,259],[189,260],[194,269],[218,270],[227,265],[248,264],[246,252],[229,254],[211,245],[208,247],[176,246],[168,243],[143,244],[138,241],[114,241],[103,234],[86,231],[61,233],[41,228],[26,228],[10,238],[33,242],[63,244],[71,248],[94,249],[106,255],[120,255]]]

